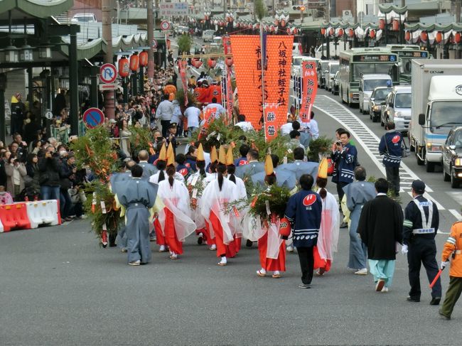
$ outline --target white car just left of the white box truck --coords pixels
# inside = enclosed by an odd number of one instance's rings
[[[394,121],[395,129],[401,132],[409,131],[411,122],[411,90],[410,86],[393,87],[392,92],[385,101],[385,109],[382,108],[381,124],[389,120]]]

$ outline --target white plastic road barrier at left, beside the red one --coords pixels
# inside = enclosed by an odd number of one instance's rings
[[[31,228],[38,225],[60,225],[61,217],[57,200],[38,200],[26,202],[27,215]]]

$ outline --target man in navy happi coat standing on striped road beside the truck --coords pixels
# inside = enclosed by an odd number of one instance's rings
[[[402,158],[402,134],[394,129],[394,122],[388,121],[385,125],[387,132],[380,139],[379,153],[384,155],[383,164],[390,183],[390,190],[399,196],[399,165]]]

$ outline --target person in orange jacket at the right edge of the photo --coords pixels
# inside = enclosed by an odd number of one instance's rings
[[[449,287],[446,291],[443,306],[439,313],[446,320],[451,318],[451,313],[462,293],[462,221],[456,222],[451,227],[451,235],[444,244],[441,261],[451,259],[451,271],[449,272]]]

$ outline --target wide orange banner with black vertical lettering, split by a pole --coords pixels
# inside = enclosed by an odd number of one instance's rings
[[[240,114],[244,114],[255,129],[261,129],[263,114],[262,54],[264,65],[264,103],[277,104],[276,129],[286,123],[290,107],[290,70],[294,36],[268,35],[262,52],[259,36],[230,37],[235,65]],[[259,107],[255,107],[258,105]]]

